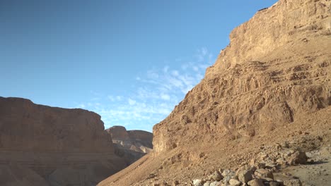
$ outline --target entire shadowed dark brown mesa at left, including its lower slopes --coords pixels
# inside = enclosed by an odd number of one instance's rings
[[[125,166],[98,114],[0,97],[0,185],[96,185]]]

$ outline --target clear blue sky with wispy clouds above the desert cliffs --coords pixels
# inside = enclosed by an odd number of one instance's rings
[[[0,96],[152,130],[276,0],[0,1]]]

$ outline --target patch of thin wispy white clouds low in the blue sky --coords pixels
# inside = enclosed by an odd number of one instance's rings
[[[135,77],[135,87],[129,95],[111,95],[91,92],[93,99],[80,104],[102,116],[105,128],[124,125],[127,128],[149,130],[163,120],[197,83],[204,77],[208,66],[214,63],[213,55],[206,48],[198,49],[189,61],[176,58],[180,68],[163,66]],[[105,94],[107,95],[107,94]],[[101,100],[105,99],[100,104]]]

